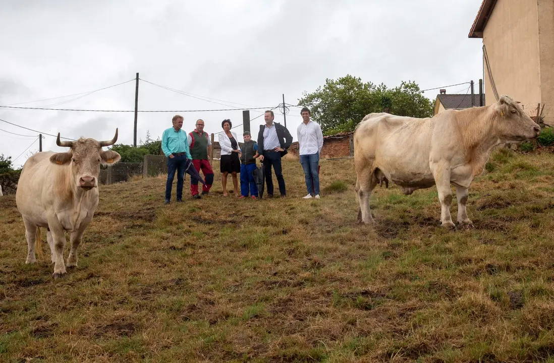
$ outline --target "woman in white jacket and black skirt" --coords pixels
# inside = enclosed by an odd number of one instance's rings
[[[240,148],[237,140],[237,134],[231,131],[231,120],[223,120],[221,123],[223,132],[218,135],[219,147],[221,148],[221,157],[219,159],[219,171],[222,173],[221,184],[223,185],[223,195],[227,196],[227,174],[231,173],[233,177],[233,187],[235,196],[239,196],[239,186],[237,173],[240,173]]]

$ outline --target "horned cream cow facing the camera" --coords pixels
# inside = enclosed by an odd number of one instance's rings
[[[121,159],[115,151],[102,151],[102,147],[116,141],[117,128],[113,139],[100,142],[83,137],[77,141],[60,142],[58,133],[56,144],[69,147],[68,152],[39,152],[25,162],[16,191],[17,209],[23,217],[27,238],[25,263],[37,261],[35,246],[39,255],[42,254],[39,229],[46,227],[55,264],[53,277],[66,273],[63,258],[65,231],[70,232],[71,242],[66,266],[77,266],[77,248],[98,206],[100,164],[113,165]]]

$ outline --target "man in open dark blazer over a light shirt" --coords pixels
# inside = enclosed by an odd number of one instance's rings
[[[288,153],[293,137],[286,127],[278,122],[273,122],[273,111],[265,111],[265,125],[260,125],[258,133],[258,150],[263,153],[260,160],[264,163],[264,177],[267,185],[268,198],[273,198],[273,179],[271,167],[275,171],[275,177],[279,184],[281,197],[286,196],[285,179],[281,168],[281,158]]]

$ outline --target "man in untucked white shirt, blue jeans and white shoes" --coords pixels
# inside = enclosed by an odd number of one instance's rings
[[[310,120],[310,110],[307,107],[300,110],[303,122],[298,125],[296,134],[298,138],[300,164],[304,169],[306,189],[308,194],[304,199],[319,199],[319,154],[323,147],[323,133],[319,123]],[[312,184],[313,183],[313,184]]]

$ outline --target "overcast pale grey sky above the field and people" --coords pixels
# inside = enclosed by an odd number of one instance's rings
[[[480,3],[0,0],[0,105],[93,91],[134,79],[139,72],[143,80],[204,98],[141,81],[139,110],[178,110],[186,131],[202,118],[204,129],[216,133],[224,118],[233,126],[242,123],[242,111],[184,111],[275,107],[283,94],[286,103],[296,104],[303,91],[347,74],[388,87],[413,80],[421,89],[473,79],[478,92],[481,40],[469,39],[468,33]],[[466,87],[447,92],[465,93]],[[78,97],[16,106],[134,110],[135,82]],[[262,112],[252,110],[250,117]],[[299,112],[290,108],[286,120],[295,140]],[[147,130],[152,138],[161,137],[173,115],[139,112],[137,140],[145,139]],[[117,142],[133,142],[134,112],[0,108],[0,118],[69,138],[110,139],[119,127]],[[275,121],[283,122],[278,111]],[[261,123],[263,116],[252,122],[252,129]],[[36,142],[24,152],[37,133],[1,121],[0,129],[24,135],[0,131],[0,154],[21,154],[15,165],[38,151]],[[233,131],[242,140],[242,127]],[[46,136],[43,150],[62,148]]]

